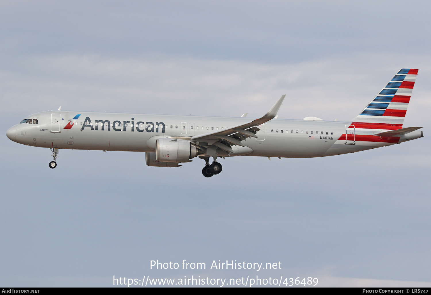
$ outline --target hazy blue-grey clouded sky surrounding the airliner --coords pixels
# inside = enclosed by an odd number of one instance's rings
[[[150,260],[278,262],[318,286],[431,286],[427,1],[2,1],[0,286],[111,286]],[[420,69],[405,126],[424,138],[337,157],[145,165],[50,151],[6,130],[44,110],[356,116]],[[410,282],[406,282],[410,281]],[[414,281],[414,282],[412,282]],[[428,283],[427,283],[428,282]]]

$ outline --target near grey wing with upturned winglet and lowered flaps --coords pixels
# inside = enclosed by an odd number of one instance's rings
[[[256,132],[258,132],[260,129],[256,126],[259,126],[275,118],[281,104],[283,103],[284,97],[286,97],[286,94],[281,95],[280,99],[277,100],[268,113],[259,119],[255,119],[245,124],[232,126],[223,130],[212,131],[201,135],[194,135],[188,139],[203,148],[208,148],[211,145],[215,145],[216,147],[231,153],[233,152],[231,149],[232,145],[240,145],[244,147],[244,144],[241,143],[241,141],[244,139],[249,137],[258,138]]]

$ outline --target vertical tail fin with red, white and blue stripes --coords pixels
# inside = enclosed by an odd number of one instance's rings
[[[355,122],[352,124],[373,125],[375,127],[373,129],[402,128],[417,74],[418,69],[401,69],[374,100],[353,119]]]

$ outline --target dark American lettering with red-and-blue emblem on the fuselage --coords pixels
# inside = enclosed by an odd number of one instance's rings
[[[80,115],[77,115],[80,116]],[[76,116],[75,116],[76,117]],[[78,118],[78,117],[76,117]],[[134,118],[131,118],[131,120],[134,120]],[[70,127],[67,129],[72,128],[73,126],[73,122],[71,121],[72,124],[70,124]],[[93,124],[93,122],[91,122],[91,119],[89,117],[85,118],[84,124],[81,127],[81,131],[84,130],[85,127],[89,127],[91,130],[98,130],[99,127],[101,130],[105,130],[105,127],[108,129],[108,131],[112,130],[114,131],[126,131],[126,127],[130,126],[131,127],[131,131],[134,132],[134,130],[136,129],[137,132],[162,132],[165,133],[165,123],[163,122],[156,122],[156,124],[154,124],[153,122],[134,122],[134,121],[113,121],[112,123],[109,120],[95,120],[94,121],[95,124]],[[68,127],[68,125],[66,125],[66,127]],[[64,129],[66,129],[66,127]]]

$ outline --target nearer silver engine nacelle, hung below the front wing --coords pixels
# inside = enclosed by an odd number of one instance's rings
[[[190,162],[198,154],[198,149],[190,141],[175,138],[157,138],[156,160],[160,162]]]

